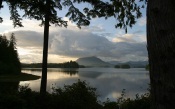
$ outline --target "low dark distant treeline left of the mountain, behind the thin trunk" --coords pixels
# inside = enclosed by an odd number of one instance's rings
[[[21,64],[22,68],[41,68],[42,63],[31,63],[31,64]],[[64,63],[48,63],[48,68],[82,68],[84,66],[79,65],[75,61],[64,62]]]

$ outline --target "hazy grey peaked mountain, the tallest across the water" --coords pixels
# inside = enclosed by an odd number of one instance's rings
[[[83,57],[76,60],[79,65],[84,65],[85,67],[112,67],[110,63],[104,62],[101,59],[92,57]]]

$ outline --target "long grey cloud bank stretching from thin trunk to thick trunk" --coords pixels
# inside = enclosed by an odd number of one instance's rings
[[[127,37],[130,38],[130,35]],[[53,54],[77,58],[99,56],[126,60],[131,57],[130,60],[139,60],[147,57],[145,42],[111,42],[87,31],[61,31],[53,37],[50,49]]]

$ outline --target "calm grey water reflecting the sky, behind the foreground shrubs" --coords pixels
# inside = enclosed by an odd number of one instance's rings
[[[41,69],[24,69],[22,72],[41,76]],[[149,88],[149,73],[144,68],[79,68],[79,69],[48,69],[47,91],[51,88],[71,85],[77,80],[86,81],[97,88],[99,100],[111,101],[120,97],[123,89],[126,96],[134,98],[136,94],[144,94]],[[41,79],[21,81],[20,85],[29,85],[32,90],[39,91]]]

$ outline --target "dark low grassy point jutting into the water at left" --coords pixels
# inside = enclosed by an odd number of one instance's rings
[[[37,80],[39,78],[40,76],[27,73],[0,75],[0,81],[30,81],[30,80]]]

